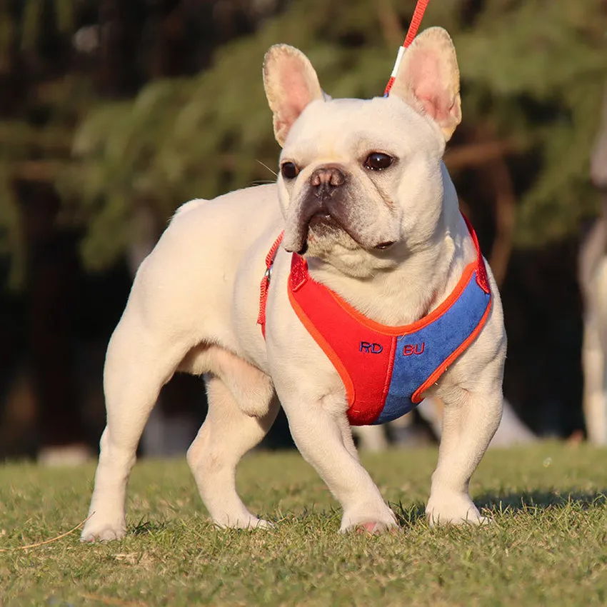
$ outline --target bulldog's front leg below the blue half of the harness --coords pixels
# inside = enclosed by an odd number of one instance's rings
[[[443,430],[426,515],[431,524],[483,523],[468,485],[501,420],[501,384],[477,392],[451,388],[440,396]]]

